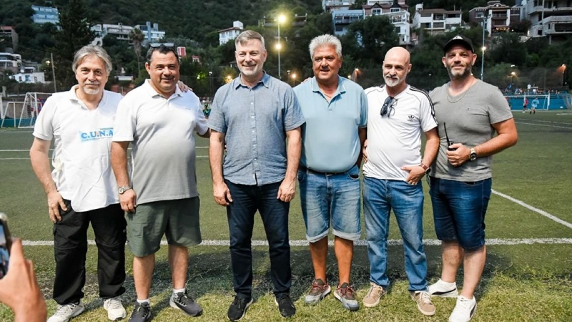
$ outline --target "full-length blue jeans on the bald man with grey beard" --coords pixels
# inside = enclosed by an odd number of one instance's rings
[[[363,206],[366,218],[367,253],[370,281],[386,288],[387,236],[390,210],[403,238],[405,272],[409,290],[427,289],[427,258],[423,250],[423,186],[401,180],[368,178],[363,180]]]

